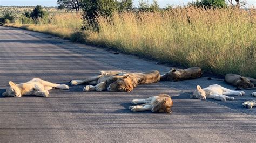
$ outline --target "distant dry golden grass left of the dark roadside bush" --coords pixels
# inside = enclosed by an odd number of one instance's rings
[[[61,13],[50,19],[39,19],[36,24],[33,24],[32,20],[23,23],[21,19],[17,19],[15,23],[5,24],[5,26],[25,28],[26,30],[52,34],[61,38],[70,38],[73,33],[80,31],[82,16],[77,13]]]

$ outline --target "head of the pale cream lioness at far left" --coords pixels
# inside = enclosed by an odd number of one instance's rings
[[[18,88],[18,85],[14,82],[9,82],[9,87],[6,88],[6,92],[2,95],[5,97],[21,97],[21,90]]]

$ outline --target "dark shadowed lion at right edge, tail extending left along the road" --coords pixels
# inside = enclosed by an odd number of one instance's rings
[[[218,80],[223,81],[220,79],[208,78],[209,80]],[[244,77],[237,74],[226,74],[225,80],[227,84],[233,85],[237,87],[237,90],[250,90],[256,89],[256,80],[250,77]]]

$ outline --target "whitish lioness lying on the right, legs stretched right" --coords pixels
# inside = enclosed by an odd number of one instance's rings
[[[245,94],[244,91],[234,91],[224,87],[221,87],[218,84],[210,85],[207,88],[202,89],[199,85],[197,85],[197,90],[194,91],[190,98],[197,98],[197,99],[206,99],[206,98],[213,98],[219,101],[226,101],[226,100],[234,100],[234,97],[228,97],[226,95],[237,95],[243,96]]]

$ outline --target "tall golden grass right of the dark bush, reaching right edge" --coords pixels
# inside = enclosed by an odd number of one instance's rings
[[[225,75],[256,77],[256,11],[173,9],[97,18],[92,43]]]

